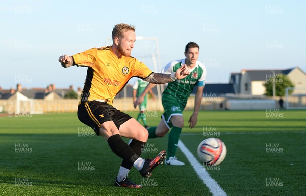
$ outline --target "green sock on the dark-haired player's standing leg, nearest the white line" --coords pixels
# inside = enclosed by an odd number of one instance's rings
[[[174,157],[177,150],[177,144],[179,144],[180,134],[182,132],[182,128],[173,126],[169,133],[168,138],[168,151],[167,151],[167,160],[169,157]]]

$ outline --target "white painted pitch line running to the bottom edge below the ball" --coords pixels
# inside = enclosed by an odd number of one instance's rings
[[[204,167],[197,161],[193,154],[186,148],[183,142],[179,141],[179,148],[185,154],[188,161],[192,165],[193,169],[199,176],[199,178],[204,182],[204,184],[209,188],[213,195],[226,195],[224,190],[219,186],[219,184],[210,177],[209,173],[204,169]]]

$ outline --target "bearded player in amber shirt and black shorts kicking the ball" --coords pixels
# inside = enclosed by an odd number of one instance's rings
[[[112,39],[111,46],[92,48],[73,56],[66,54],[59,57],[59,62],[64,68],[74,65],[87,67],[78,118],[97,135],[105,138],[111,150],[123,159],[115,186],[140,188],[140,185],[127,178],[130,169],[134,166],[143,177],[149,177],[152,170],[165,159],[166,151],[161,151],[152,159],[141,158],[141,146],[147,141],[148,132],[131,116],[114,108],[113,99],[131,77],[163,84],[186,77],[189,69],[183,65],[171,74],[154,73],[131,57],[136,41],[135,27],[132,25],[115,25]],[[127,145],[121,137],[133,140]]]

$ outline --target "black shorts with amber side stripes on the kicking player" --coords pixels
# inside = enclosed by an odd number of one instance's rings
[[[107,103],[91,101],[79,104],[78,118],[99,135],[99,128],[104,122],[113,121],[119,129],[121,124],[130,120],[132,117]]]

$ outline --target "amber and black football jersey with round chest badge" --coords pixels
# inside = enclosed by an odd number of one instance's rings
[[[72,56],[77,66],[88,67],[80,103],[105,100],[108,104],[130,78],[145,78],[152,71],[134,57],[114,54],[111,46],[92,48]]]

